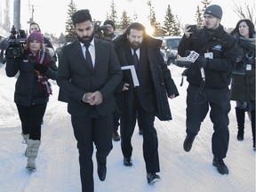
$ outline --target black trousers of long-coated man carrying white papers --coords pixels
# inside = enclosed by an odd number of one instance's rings
[[[137,116],[140,118],[140,126],[143,127],[143,156],[146,163],[146,171],[160,172],[158,139],[154,127],[155,112],[146,112],[141,108],[140,100],[136,92],[133,96],[132,111],[121,115],[120,130],[123,156],[132,156],[132,134],[134,132]]]

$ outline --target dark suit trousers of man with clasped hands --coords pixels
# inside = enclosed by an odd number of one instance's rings
[[[90,116],[71,116],[71,123],[77,140],[79,152],[80,177],[83,192],[94,191],[93,181],[93,143],[97,156],[106,163],[106,158],[113,148],[113,115],[99,116],[93,109]]]

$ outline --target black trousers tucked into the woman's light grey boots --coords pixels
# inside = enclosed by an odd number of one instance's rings
[[[41,123],[47,107],[47,103],[33,106],[16,104],[21,121],[23,134],[29,134],[31,140],[41,140]]]

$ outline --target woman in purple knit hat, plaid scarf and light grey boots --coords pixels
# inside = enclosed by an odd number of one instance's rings
[[[49,78],[56,79],[57,66],[44,47],[44,36],[32,32],[26,39],[27,47],[20,57],[6,55],[6,75],[16,76],[14,102],[16,103],[21,135],[27,143],[25,156],[28,157],[28,169],[36,169],[36,156],[41,144],[41,122],[52,94]]]

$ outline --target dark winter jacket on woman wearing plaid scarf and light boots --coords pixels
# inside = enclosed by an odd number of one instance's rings
[[[19,58],[7,59],[5,71],[9,77],[18,74],[14,92],[15,103],[29,107],[49,101],[49,95],[40,88],[38,83],[34,63],[28,60],[27,55],[23,54]],[[54,60],[51,60],[45,76],[56,80],[57,66]]]

